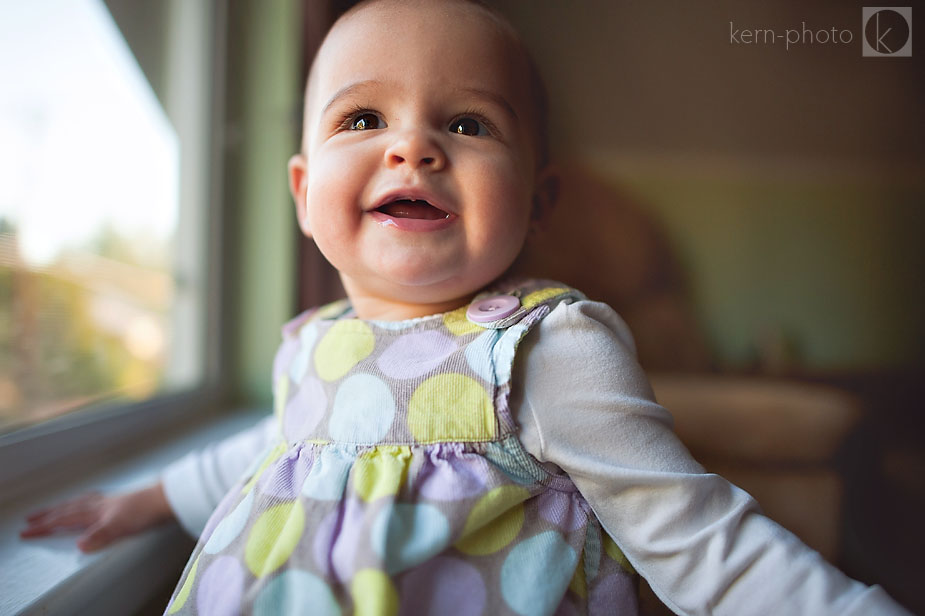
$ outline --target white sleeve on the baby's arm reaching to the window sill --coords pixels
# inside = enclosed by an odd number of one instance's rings
[[[242,432],[193,451],[161,473],[164,494],[180,525],[198,537],[221,499],[254,458],[278,438],[270,415]]]

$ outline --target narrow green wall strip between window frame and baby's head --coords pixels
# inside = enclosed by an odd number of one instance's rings
[[[280,326],[292,318],[297,227],[286,163],[301,106],[296,0],[229,3],[225,201],[234,220],[224,264],[232,324],[232,387],[268,402]]]

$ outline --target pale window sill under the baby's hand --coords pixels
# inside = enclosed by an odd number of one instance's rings
[[[118,464],[88,469],[79,481],[0,505],[0,614],[130,614],[145,605],[176,581],[189,556],[190,539],[176,524],[83,554],[75,545],[76,533],[20,539],[26,513],[90,489],[117,492],[150,484],[169,462],[243,430],[267,413],[247,409],[213,417]]]

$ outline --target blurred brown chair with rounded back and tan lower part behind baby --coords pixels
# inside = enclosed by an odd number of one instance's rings
[[[694,457],[837,562],[844,480],[835,461],[862,415],[858,397],[796,378],[718,373],[658,225],[580,169],[563,171],[559,204],[515,268],[613,306]],[[645,613],[670,613],[650,590],[642,594]]]

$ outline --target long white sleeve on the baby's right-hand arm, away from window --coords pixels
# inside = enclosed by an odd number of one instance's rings
[[[525,448],[568,473],[676,613],[908,613],[694,461],[655,402],[629,329],[606,304],[559,304],[524,339],[518,362],[511,408]]]

